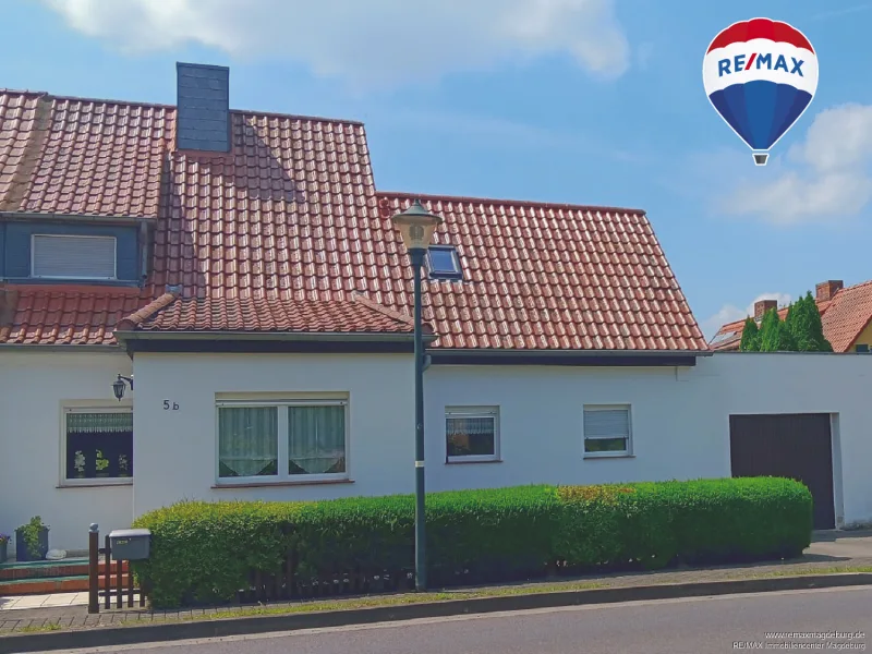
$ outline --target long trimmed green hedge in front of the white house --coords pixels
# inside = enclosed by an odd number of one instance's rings
[[[772,477],[518,486],[429,494],[426,518],[431,582],[457,571],[496,581],[798,556],[812,499]],[[230,601],[252,570],[278,572],[289,553],[300,577],[410,570],[414,560],[412,496],[186,501],[134,526],[153,533],[152,558],[134,569],[156,607]]]

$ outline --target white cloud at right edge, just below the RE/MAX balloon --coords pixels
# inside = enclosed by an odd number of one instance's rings
[[[857,216],[872,201],[872,106],[822,111],[806,140],[766,168],[755,175],[762,181],[737,184],[722,208],[776,225]]]

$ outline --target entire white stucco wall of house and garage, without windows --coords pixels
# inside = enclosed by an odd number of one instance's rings
[[[86,530],[184,498],[318,499],[412,493],[411,355],[137,354],[134,480],[59,488],[64,404],[116,403],[121,353],[0,351],[0,531],[34,514],[51,546],[81,549]],[[834,416],[836,514],[872,522],[872,356],[739,354],[693,368],[433,366],[425,373],[427,489],[728,476],[731,413]],[[353,483],[214,488],[216,393],[349,397]],[[130,391],[129,391],[130,393]],[[130,397],[130,395],[129,395]],[[164,401],[178,410],[166,411]],[[125,398],[125,402],[129,398]],[[632,457],[584,459],[584,404],[632,407]],[[446,464],[446,407],[497,405],[501,462]]]

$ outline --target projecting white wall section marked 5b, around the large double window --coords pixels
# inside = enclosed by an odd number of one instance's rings
[[[138,516],[180,499],[411,493],[413,374],[413,358],[407,354],[137,354],[134,510]],[[348,471],[353,483],[213,488],[216,393],[240,392],[347,392]],[[179,409],[164,410],[164,400]]]

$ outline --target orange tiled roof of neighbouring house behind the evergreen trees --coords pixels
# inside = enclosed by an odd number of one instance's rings
[[[839,288],[832,296],[816,299],[815,303],[821,313],[824,338],[835,352],[847,352],[872,322],[872,281]],[[778,308],[782,319],[787,317],[788,308]],[[711,348],[717,351],[738,350],[743,328],[743,319],[724,325],[712,339]]]

